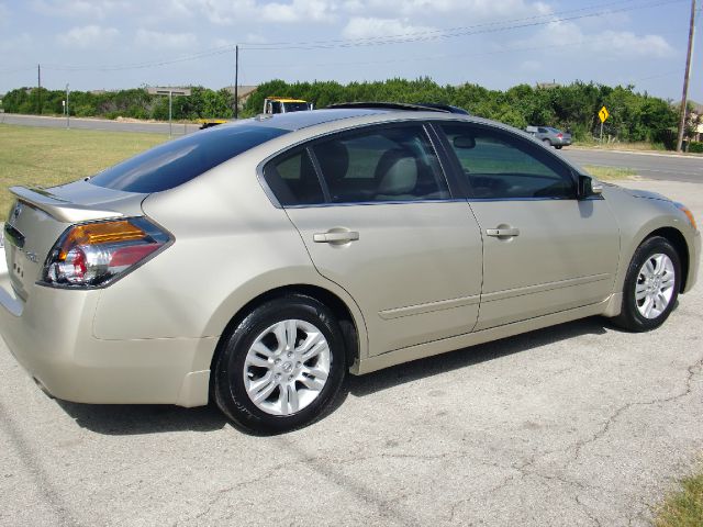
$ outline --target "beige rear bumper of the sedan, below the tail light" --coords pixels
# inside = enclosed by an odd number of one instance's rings
[[[4,272],[3,272],[4,271]],[[0,269],[0,333],[51,395],[96,404],[208,404],[216,337],[103,340],[92,335],[100,291],[36,285],[26,302]]]

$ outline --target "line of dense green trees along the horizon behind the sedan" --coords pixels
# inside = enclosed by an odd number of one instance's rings
[[[576,81],[566,86],[533,87],[518,85],[505,91],[489,90],[479,85],[440,86],[429,78],[389,79],[376,82],[314,81],[289,83],[271,80],[259,85],[241,106],[239,116],[259,113],[269,96],[292,97],[324,108],[336,102],[391,101],[434,102],[468,110],[473,115],[501,121],[524,128],[547,125],[570,130],[577,139],[600,136],[598,112],[606,106],[610,117],[603,134],[622,142],[651,142],[672,147],[676,139],[678,110],[670,101],[635,91],[634,86],[610,87]],[[8,92],[2,101],[7,112],[60,115],[66,93],[44,88],[20,88]],[[118,116],[168,119],[168,98],[149,94],[146,88],[108,91],[70,92],[69,111],[76,116]],[[176,120],[232,119],[234,96],[227,89],[193,87],[190,97],[172,102]],[[692,125],[693,123],[691,123]]]

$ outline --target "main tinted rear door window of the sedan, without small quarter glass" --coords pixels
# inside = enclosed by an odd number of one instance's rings
[[[421,125],[344,134],[312,150],[333,203],[449,198],[444,173]]]

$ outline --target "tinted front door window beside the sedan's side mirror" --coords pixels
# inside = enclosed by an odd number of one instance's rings
[[[569,169],[512,134],[466,124],[440,125],[478,199],[573,199]]]

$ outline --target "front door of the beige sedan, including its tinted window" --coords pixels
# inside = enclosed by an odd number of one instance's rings
[[[605,300],[620,254],[607,203],[577,199],[571,169],[517,134],[481,124],[438,127],[483,237],[476,329]]]

